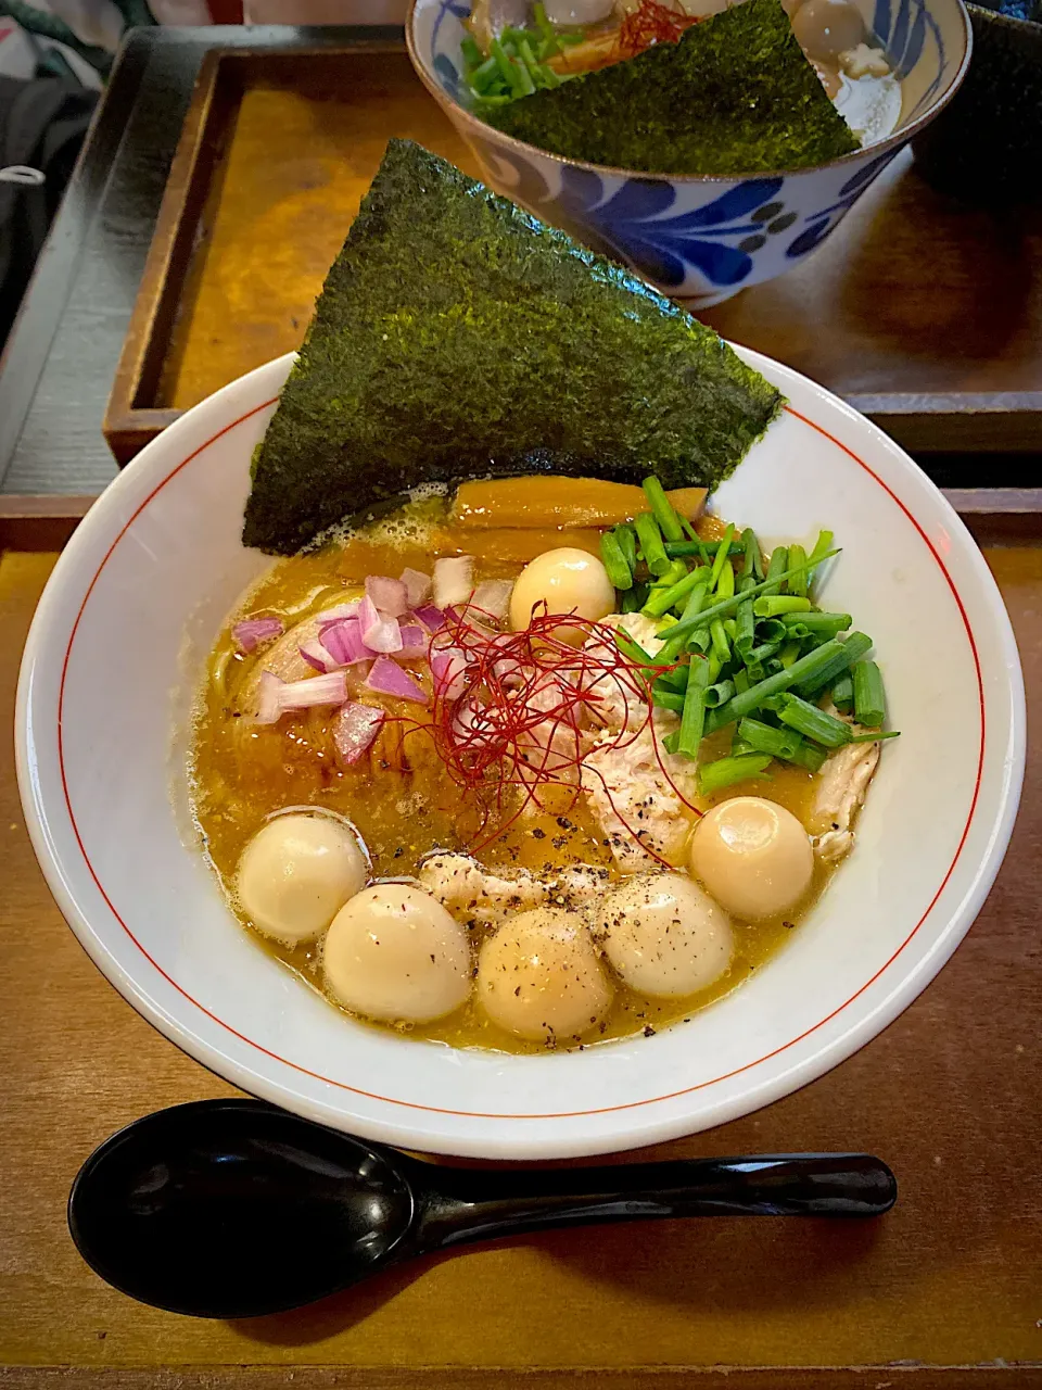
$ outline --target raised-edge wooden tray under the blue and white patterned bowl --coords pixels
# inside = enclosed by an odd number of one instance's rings
[[[402,43],[210,53],[104,421],[119,463],[300,343],[390,135],[475,172]],[[914,453],[1042,448],[1042,211],[961,208],[916,177],[910,152],[813,257],[704,318]],[[1011,481],[991,471],[974,485]]]

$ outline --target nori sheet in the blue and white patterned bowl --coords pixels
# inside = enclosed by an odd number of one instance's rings
[[[743,0],[678,43],[475,114],[553,154],[649,174],[799,170],[860,147],[779,0]]]

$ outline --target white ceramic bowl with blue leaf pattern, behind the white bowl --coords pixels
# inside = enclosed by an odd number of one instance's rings
[[[536,217],[704,309],[809,256],[953,96],[970,63],[963,0],[854,0],[903,86],[885,140],[809,170],[746,178],[638,174],[525,145],[472,115],[460,81],[464,0],[413,0],[408,54],[474,150],[485,181]]]

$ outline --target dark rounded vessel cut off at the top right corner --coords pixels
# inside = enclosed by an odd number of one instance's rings
[[[966,203],[1042,203],[1042,0],[967,8],[970,71],[948,110],[913,140],[917,168]]]

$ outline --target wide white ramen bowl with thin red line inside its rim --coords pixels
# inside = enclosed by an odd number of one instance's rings
[[[507,1056],[356,1023],[239,926],[192,838],[185,719],[221,624],[271,563],[239,530],[282,357],[189,410],[97,500],[22,664],[33,847],[94,963],[167,1037],[336,1129],[536,1159],[667,1140],[775,1101],[868,1042],[936,974],[1017,810],[1024,691],[1009,619],[961,521],[895,443],[821,386],[741,356],[789,407],[716,506],[768,543],[835,531],[825,602],[875,638],[902,730],[852,858],[785,948],[654,1037]]]

